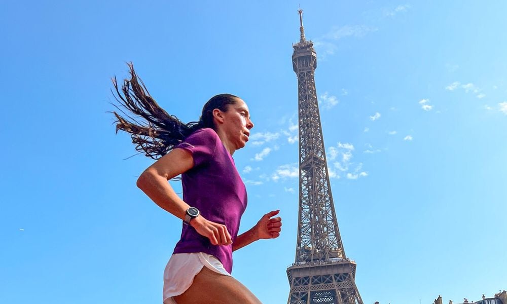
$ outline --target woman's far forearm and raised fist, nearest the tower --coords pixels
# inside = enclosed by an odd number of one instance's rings
[[[280,236],[282,219],[281,217],[274,217],[280,210],[271,211],[261,217],[255,226],[245,233],[240,234],[236,241],[232,244],[232,251],[243,248],[260,239],[275,239]]]

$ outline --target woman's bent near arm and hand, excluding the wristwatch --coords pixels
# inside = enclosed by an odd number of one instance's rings
[[[152,199],[160,208],[180,219],[185,219],[187,203],[180,199],[169,179],[190,170],[194,160],[189,151],[176,148],[164,155],[153,165],[141,173],[137,179],[137,186]],[[202,215],[192,219],[190,225],[202,236],[207,237],[213,245],[231,244],[231,235],[223,224],[205,219]]]

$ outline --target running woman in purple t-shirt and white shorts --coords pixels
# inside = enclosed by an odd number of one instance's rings
[[[157,205],[184,221],[182,236],[164,271],[164,304],[260,303],[231,276],[232,251],[260,239],[277,238],[279,210],[265,214],[238,235],[246,208],[246,189],[232,159],[245,146],[253,123],[246,103],[231,94],[212,97],[198,122],[183,124],[169,116],[149,95],[130,67],[123,96],[117,99],[147,124],[118,119],[117,131],[132,134],[138,151],[158,159],[138,178],[137,186]],[[168,183],[182,175],[183,200]]]

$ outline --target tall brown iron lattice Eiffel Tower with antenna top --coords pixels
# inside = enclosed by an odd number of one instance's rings
[[[317,56],[305,39],[293,45],[299,99],[299,225],[296,260],[287,268],[288,304],[363,304],[355,285],[356,263],[345,256],[331,194],[315,90]]]

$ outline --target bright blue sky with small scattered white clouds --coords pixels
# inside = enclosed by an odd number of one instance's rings
[[[157,303],[180,221],[135,187],[107,111],[132,61],[183,121],[233,93],[255,128],[234,155],[241,231],[283,231],[233,275],[284,303],[298,216],[300,2],[9,2],[0,12],[0,302]],[[507,4],[301,2],[332,191],[365,303],[478,300],[507,288]],[[180,189],[178,183],[174,187]],[[178,190],[180,191],[180,190]]]

